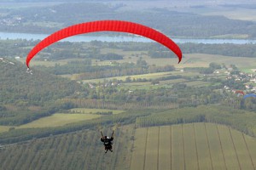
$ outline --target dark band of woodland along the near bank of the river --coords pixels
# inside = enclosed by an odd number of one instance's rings
[[[27,40],[1,40],[0,54],[2,57],[14,58],[15,56],[24,57],[29,53],[29,48],[36,45],[38,41]],[[256,44],[204,44],[204,43],[181,43],[178,44],[183,54],[219,54],[231,57],[250,57],[256,58]],[[58,60],[58,59],[99,59],[99,60],[119,60],[123,55],[109,52],[101,54],[101,48],[119,48],[121,50],[138,51],[136,55],[139,59],[141,55],[148,55],[151,58],[176,58],[170,50],[155,42],[57,42],[45,48],[36,59],[39,60]],[[14,50],[15,49],[15,50]],[[146,52],[143,52],[146,51]],[[185,57],[185,56],[183,56]],[[81,63],[80,63],[81,64]],[[89,63],[84,63],[89,65]]]

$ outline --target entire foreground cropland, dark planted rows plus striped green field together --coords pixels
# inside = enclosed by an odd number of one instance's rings
[[[112,129],[102,132],[109,135]],[[113,153],[107,154],[100,136],[96,130],[83,130],[5,145],[0,168],[253,170],[256,166],[256,139],[218,124],[122,126],[115,129]]]

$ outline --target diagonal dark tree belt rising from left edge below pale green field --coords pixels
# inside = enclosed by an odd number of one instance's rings
[[[62,133],[71,133],[83,129],[96,129],[99,125],[103,127],[131,124],[138,116],[147,116],[154,110],[126,111],[122,114],[102,116],[101,118],[71,123],[62,127],[24,128],[12,129],[9,132],[0,133],[0,144],[12,144],[30,139],[39,139]]]

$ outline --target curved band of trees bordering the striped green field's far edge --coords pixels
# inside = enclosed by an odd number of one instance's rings
[[[256,137],[255,111],[243,111],[224,105],[201,105],[137,117],[137,127],[172,125],[190,122],[213,122],[235,128]],[[246,122],[246,123],[245,123]]]

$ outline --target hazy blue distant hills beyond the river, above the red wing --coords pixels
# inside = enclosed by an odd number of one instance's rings
[[[0,16],[0,31],[52,33],[91,20],[130,20],[152,26],[171,37],[242,35],[255,38],[256,35],[256,24],[252,21],[176,12],[163,7],[143,9],[138,7],[144,6],[144,3],[137,4],[136,8],[130,10],[124,10],[122,4],[109,3],[61,3],[47,7],[10,8]]]

